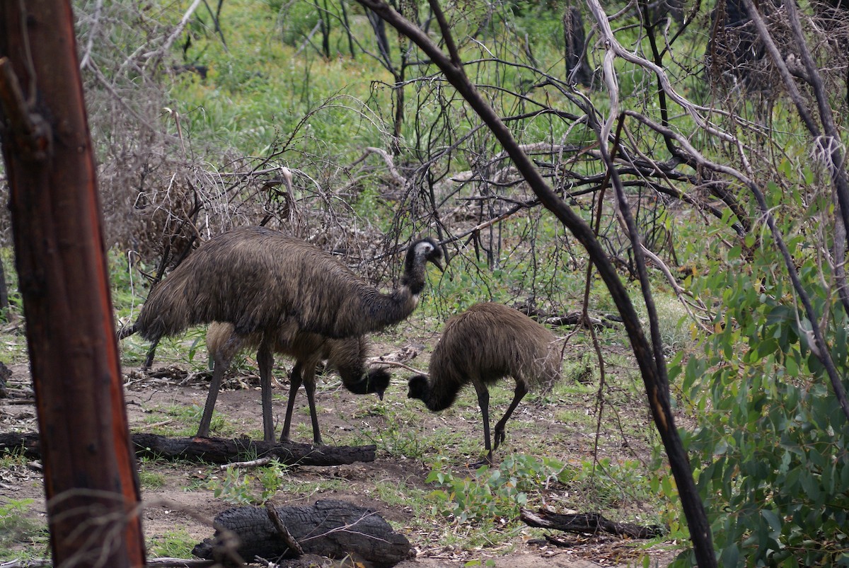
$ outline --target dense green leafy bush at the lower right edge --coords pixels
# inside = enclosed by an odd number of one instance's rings
[[[796,234],[788,246],[815,309],[827,314],[820,324],[846,377],[849,318],[824,294],[818,259]],[[705,297],[722,298],[717,332],[698,356],[679,354],[670,368],[698,420],[683,436],[720,563],[849,563],[849,424],[812,354],[811,324],[771,243],[751,259],[735,247],[726,262],[696,284]]]

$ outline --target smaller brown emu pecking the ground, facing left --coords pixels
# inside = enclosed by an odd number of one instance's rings
[[[554,335],[524,313],[493,303],[471,306],[448,319],[442,338],[430,357],[430,381],[418,374],[409,381],[409,398],[418,398],[431,411],[450,407],[460,389],[475,385],[483,416],[486,463],[504,441],[504,425],[534,386],[548,390],[560,379],[560,353]],[[516,381],[513,402],[495,425],[495,445],[489,436],[489,391],[486,385],[504,377]]]

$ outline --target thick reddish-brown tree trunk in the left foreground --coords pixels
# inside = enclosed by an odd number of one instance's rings
[[[144,565],[70,0],[0,2],[0,135],[54,565]]]

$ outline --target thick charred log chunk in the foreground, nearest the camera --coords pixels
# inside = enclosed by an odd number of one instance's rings
[[[383,517],[357,505],[324,499],[311,506],[275,507],[280,522],[303,554],[331,559],[349,558],[363,565],[389,567],[410,558],[407,537],[392,529]],[[236,507],[217,515],[215,536],[206,538],[192,550],[198,558],[245,560],[295,558],[265,509]],[[238,538],[238,548],[228,549],[223,540]],[[235,554],[233,554],[235,553]]]

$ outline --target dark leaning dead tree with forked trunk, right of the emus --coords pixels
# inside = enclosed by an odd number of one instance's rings
[[[646,398],[649,401],[652,418],[655,421],[655,426],[661,435],[663,446],[666,449],[666,455],[669,458],[672,468],[672,475],[675,476],[675,480],[678,482],[678,492],[681,497],[684,514],[687,517],[696,561],[700,566],[716,566],[717,559],[713,552],[711,526],[707,520],[705,505],[702,503],[699,492],[696,490],[693,472],[690,469],[689,457],[684,450],[681,436],[679,436],[675,426],[675,416],[672,414],[672,404],[669,399],[669,379],[666,374],[666,360],[663,354],[663,341],[661,340],[660,329],[657,326],[657,313],[649,288],[649,278],[646,272],[643,251],[635,247],[634,255],[638,266],[645,306],[649,313],[650,340],[645,335],[643,324],[640,323],[630,295],[628,295],[625,286],[621,283],[616,268],[613,267],[610,259],[605,254],[604,248],[599,243],[599,239],[593,233],[593,229],[559,195],[554,193],[554,190],[543,178],[537,166],[534,165],[528,155],[520,148],[509,127],[505,125],[496,111],[486,102],[480,91],[469,80],[469,76],[465,73],[463,61],[460,58],[451,26],[437,0],[430,0],[430,7],[440,27],[441,39],[443,41],[441,45],[445,46],[447,53],[439,45],[436,45],[428,34],[424,33],[417,25],[413,25],[412,22],[403,18],[401,14],[398,14],[396,10],[392,9],[383,0],[357,0],[357,2],[363,4],[364,8],[374,10],[375,13],[379,14],[381,18],[395,27],[396,30],[409,37],[411,41],[416,43],[430,57],[435,65],[439,66],[447,82],[450,82],[457,89],[458,93],[468,102],[469,108],[481,117],[481,120],[486,123],[486,126],[498,138],[498,142],[503,145],[504,150],[508,153],[510,159],[513,160],[514,166],[516,166],[522,177],[525,178],[528,186],[537,194],[540,202],[549,211],[554,213],[554,216],[563,223],[565,228],[570,230],[587,250],[589,259],[599,271],[599,276],[610,291],[610,297],[616,304],[622,321],[625,323],[628,340],[631,342],[634,357],[637,359],[640,374],[643,377]],[[599,18],[603,17],[604,24],[607,24],[606,15],[602,15],[603,10],[600,4],[596,0],[588,0],[588,3],[590,8],[593,9],[594,15],[597,14]],[[599,25],[601,25],[600,20]],[[638,242],[631,206],[624,199],[625,193],[622,188],[621,177],[616,172],[616,168],[613,167],[610,149],[607,147],[607,134],[610,134],[610,132],[606,128],[599,128],[599,151],[605,165],[610,170],[610,181],[617,190],[617,201],[620,211],[622,211],[622,216],[626,221],[628,231],[632,234],[634,242]]]

